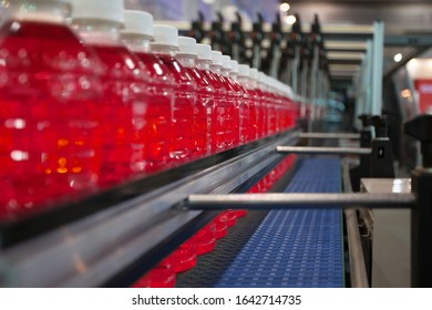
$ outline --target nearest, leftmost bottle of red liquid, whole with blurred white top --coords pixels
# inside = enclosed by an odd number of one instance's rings
[[[0,29],[2,218],[97,184],[101,68],[64,24],[66,4],[12,1]]]

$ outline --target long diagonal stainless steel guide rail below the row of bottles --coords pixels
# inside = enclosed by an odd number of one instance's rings
[[[229,193],[280,157],[275,147],[295,143],[296,134],[1,252],[0,283],[101,286],[200,213],[173,205],[191,194]]]

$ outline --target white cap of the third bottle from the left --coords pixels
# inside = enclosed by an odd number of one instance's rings
[[[153,38],[153,16],[143,11],[125,10],[122,33],[143,34]]]

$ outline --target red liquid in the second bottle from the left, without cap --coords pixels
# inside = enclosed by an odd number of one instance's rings
[[[145,172],[145,121],[148,79],[140,60],[122,45],[91,44],[106,66],[103,76],[104,157],[101,185],[120,184]]]

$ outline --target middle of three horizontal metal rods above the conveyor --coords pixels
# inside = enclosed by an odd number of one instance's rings
[[[313,147],[313,146],[278,146],[279,153],[292,154],[335,154],[335,155],[369,155],[371,148],[367,147]]]

